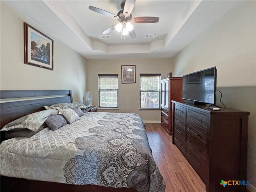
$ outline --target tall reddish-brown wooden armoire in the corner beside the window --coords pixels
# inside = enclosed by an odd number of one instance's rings
[[[172,135],[172,103],[171,100],[182,99],[182,77],[170,77],[161,80],[161,125]]]

